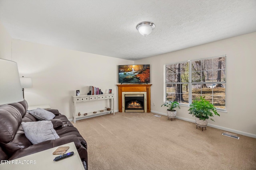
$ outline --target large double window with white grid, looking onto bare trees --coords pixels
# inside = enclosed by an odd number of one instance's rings
[[[166,64],[166,100],[189,105],[205,96],[217,109],[226,110],[226,55]]]

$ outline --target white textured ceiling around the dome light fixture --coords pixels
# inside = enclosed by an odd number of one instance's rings
[[[14,39],[138,60],[255,32],[256,0],[0,0],[0,22]]]

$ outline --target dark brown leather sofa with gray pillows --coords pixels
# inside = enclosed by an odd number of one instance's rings
[[[56,115],[51,121],[60,138],[33,145],[26,138],[21,123],[38,120],[27,113],[27,109],[28,103],[26,100],[0,106],[0,161],[13,160],[74,142],[85,169],[88,169],[87,143],[65,115],[62,115],[56,109],[49,109],[48,111]],[[66,124],[69,126],[62,127],[63,122],[67,122]]]

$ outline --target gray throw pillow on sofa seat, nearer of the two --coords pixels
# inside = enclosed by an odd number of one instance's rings
[[[32,144],[60,138],[51,121],[22,122],[25,136]]]

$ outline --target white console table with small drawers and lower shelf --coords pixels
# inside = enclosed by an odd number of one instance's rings
[[[97,110],[97,113],[88,112],[87,115],[84,115],[84,113],[81,113],[79,116],[78,113],[76,113],[76,104],[80,102],[92,102],[92,101],[98,101],[98,100],[110,100],[110,110],[104,109],[104,111]],[[105,106],[104,106],[105,107]],[[76,123],[77,118],[88,118],[92,117],[92,115],[100,115],[102,113],[114,113],[114,94],[101,94],[101,95],[80,95],[80,96],[72,96],[72,115],[73,115],[73,121]]]

